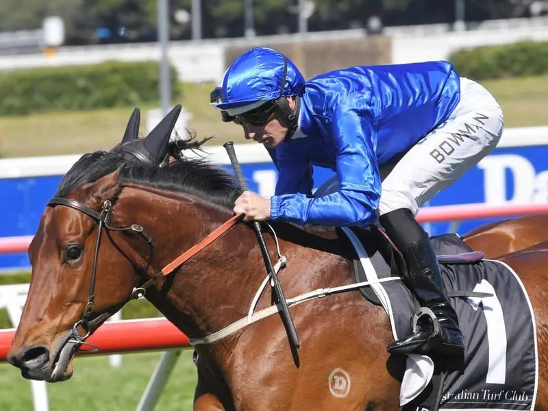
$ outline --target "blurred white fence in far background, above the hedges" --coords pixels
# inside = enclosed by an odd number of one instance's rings
[[[385,34],[393,37],[392,62],[407,63],[445,60],[457,49],[482,45],[501,45],[519,40],[548,40],[548,18],[509,19],[485,21],[477,29],[451,32],[449,25],[419,25],[386,27]],[[225,69],[225,47],[228,45],[253,47],[275,45],[295,40],[348,40],[365,38],[364,29],[334,32],[310,32],[255,38],[225,38],[199,41],[173,41],[169,58],[179,79],[186,82],[217,82]],[[0,56],[0,70],[32,67],[96,64],[108,60],[159,60],[157,43],[132,45],[101,45],[63,47],[56,53]]]

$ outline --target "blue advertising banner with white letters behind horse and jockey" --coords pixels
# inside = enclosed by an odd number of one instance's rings
[[[547,158],[548,145],[496,149],[427,205],[548,201]],[[230,168],[228,165],[223,167]],[[242,171],[251,190],[261,195],[273,194],[277,171],[271,162],[264,162],[264,158],[261,162],[246,162],[242,164]],[[330,170],[315,169],[316,188],[332,175]],[[61,175],[0,178],[0,237],[34,234],[45,204],[57,189],[60,179]],[[463,222],[458,232],[464,234],[486,222]],[[426,228],[431,235],[442,234],[449,229],[449,223],[429,224]],[[0,269],[28,266],[25,253],[0,255]]]

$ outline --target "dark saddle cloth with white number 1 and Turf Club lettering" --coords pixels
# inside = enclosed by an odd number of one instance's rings
[[[337,229],[356,250],[356,282],[405,277],[406,266],[382,229]],[[534,313],[521,281],[502,262],[484,259],[456,234],[430,238],[464,335],[464,358],[406,358],[400,410],[532,410],[538,388]],[[395,339],[409,335],[419,304],[402,281],[360,289],[382,306]],[[509,359],[507,361],[507,358]]]

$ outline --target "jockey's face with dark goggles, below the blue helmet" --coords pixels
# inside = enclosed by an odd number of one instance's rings
[[[288,97],[291,108],[295,107],[295,101]],[[284,121],[279,109],[271,112],[265,123],[250,123],[246,121],[246,116],[237,116],[234,123],[239,124],[244,129],[244,136],[247,140],[255,140],[264,144],[266,147],[276,147],[286,138],[288,126]]]

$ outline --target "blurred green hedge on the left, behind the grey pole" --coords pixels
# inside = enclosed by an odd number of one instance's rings
[[[158,101],[158,62],[106,62],[0,72],[0,116]],[[172,84],[177,73],[171,67]],[[177,88],[173,88],[177,93]],[[177,98],[178,96],[173,96]]]

